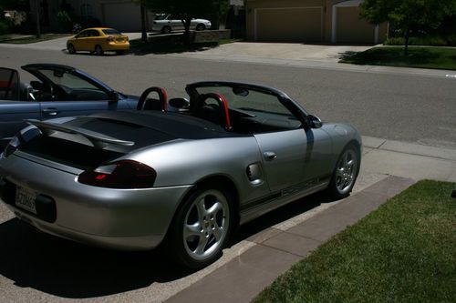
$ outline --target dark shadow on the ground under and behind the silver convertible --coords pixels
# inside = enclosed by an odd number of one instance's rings
[[[317,194],[299,199],[240,227],[231,245],[330,201]],[[17,218],[0,224],[0,275],[20,288],[60,298],[97,298],[147,288],[192,275],[160,249],[126,252],[88,247],[49,236]]]

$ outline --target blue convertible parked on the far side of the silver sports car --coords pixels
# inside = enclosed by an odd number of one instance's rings
[[[24,119],[47,120],[103,110],[136,108],[138,98],[125,96],[71,66],[22,66],[36,77],[23,83],[15,69],[0,67],[0,150],[21,128]]]

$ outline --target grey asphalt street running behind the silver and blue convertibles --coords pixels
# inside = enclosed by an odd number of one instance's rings
[[[78,67],[131,95],[163,86],[171,97],[185,96],[186,84],[214,79],[275,86],[323,120],[349,122],[364,136],[456,147],[452,77],[415,75],[413,70],[381,73],[154,55],[71,56],[57,50],[0,47],[0,66],[40,62]],[[26,72],[21,76],[31,79]]]

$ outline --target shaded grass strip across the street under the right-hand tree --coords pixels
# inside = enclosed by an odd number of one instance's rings
[[[456,48],[411,46],[409,56],[404,56],[404,47],[374,47],[361,53],[348,53],[339,62],[456,70]]]

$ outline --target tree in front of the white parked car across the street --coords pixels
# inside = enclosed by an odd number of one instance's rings
[[[181,19],[184,42],[190,44],[192,18],[219,15],[229,8],[229,0],[136,0],[156,14],[171,14]]]

